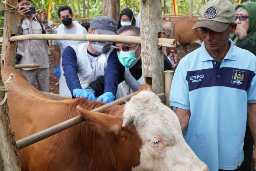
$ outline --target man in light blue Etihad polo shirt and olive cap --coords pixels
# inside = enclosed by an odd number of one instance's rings
[[[187,144],[210,171],[241,170],[246,120],[256,143],[256,57],[229,39],[235,18],[228,0],[200,8],[192,29],[204,43],[180,61],[170,92]]]

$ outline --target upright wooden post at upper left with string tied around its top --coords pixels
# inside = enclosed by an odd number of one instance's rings
[[[18,4],[17,0],[6,0],[12,6]],[[6,9],[12,8],[5,6]],[[18,12],[16,9],[6,10],[4,12],[4,33],[2,46],[2,65],[15,67],[15,55],[17,42],[10,42],[11,36],[16,36],[18,33]]]

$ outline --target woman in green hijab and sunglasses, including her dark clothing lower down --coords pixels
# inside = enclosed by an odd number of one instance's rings
[[[234,35],[230,38],[235,46],[246,49],[256,56],[256,2],[244,2],[237,5],[235,9],[237,26]],[[253,144],[252,133],[247,126],[244,138],[242,171],[251,171]]]

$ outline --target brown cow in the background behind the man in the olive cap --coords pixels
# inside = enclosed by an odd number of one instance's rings
[[[177,40],[177,46],[182,45],[184,55],[188,54],[187,45],[191,45],[193,43],[202,44],[199,29],[192,30],[197,19],[198,17],[181,17],[173,18],[168,21],[165,19],[162,20],[163,31],[170,39]]]

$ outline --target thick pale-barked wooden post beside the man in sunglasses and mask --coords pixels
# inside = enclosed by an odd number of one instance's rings
[[[163,31],[161,1],[140,0],[140,12],[144,83],[152,85],[156,94],[164,93],[164,57],[157,44],[157,37]]]

